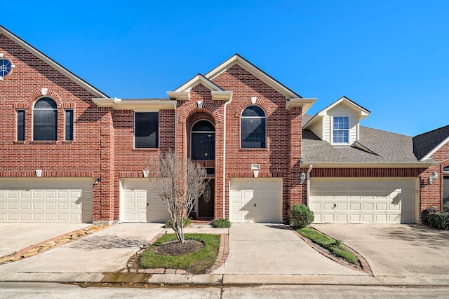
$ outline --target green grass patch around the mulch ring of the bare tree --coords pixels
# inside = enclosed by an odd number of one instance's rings
[[[204,247],[194,253],[182,256],[163,256],[154,253],[156,246],[176,239],[175,234],[163,235],[154,245],[149,246],[140,256],[141,268],[182,269],[192,274],[201,274],[215,264],[218,249],[220,248],[220,235],[185,234],[185,239],[203,242]]]

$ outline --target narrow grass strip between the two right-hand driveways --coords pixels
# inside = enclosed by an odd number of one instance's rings
[[[311,228],[300,228],[296,231],[302,235],[302,237],[307,237],[307,239],[310,239],[311,242],[328,249],[334,256],[343,258],[347,262],[354,265],[358,265],[358,258],[354,255],[354,253],[349,251],[340,240],[335,240],[331,237],[323,235],[321,232],[312,230]]]

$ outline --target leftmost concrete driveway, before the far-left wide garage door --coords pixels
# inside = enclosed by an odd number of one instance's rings
[[[86,228],[89,223],[0,223],[0,257],[27,246]]]

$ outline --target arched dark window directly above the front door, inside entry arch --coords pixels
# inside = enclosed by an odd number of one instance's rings
[[[199,120],[192,127],[192,160],[215,159],[215,127],[208,120]]]

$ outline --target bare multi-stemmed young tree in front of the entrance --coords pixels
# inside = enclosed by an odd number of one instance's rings
[[[170,212],[177,240],[184,243],[184,223],[208,183],[206,169],[190,159],[178,160],[169,152],[161,155],[158,174],[152,179],[154,190]]]

